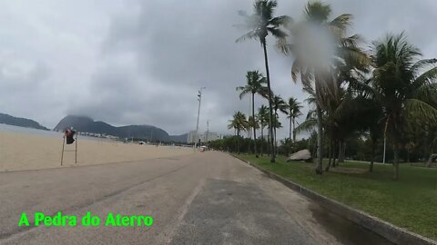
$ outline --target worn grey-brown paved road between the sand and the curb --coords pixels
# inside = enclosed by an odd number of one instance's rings
[[[151,227],[18,227],[21,213],[150,215]],[[30,216],[33,219],[33,216]],[[2,244],[388,244],[221,152],[0,173]]]

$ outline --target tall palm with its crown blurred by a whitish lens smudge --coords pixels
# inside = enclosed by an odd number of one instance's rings
[[[353,59],[355,64],[368,62],[367,56],[358,48],[359,35],[346,36],[346,29],[351,25],[351,15],[330,18],[330,5],[311,1],[305,7],[304,21],[291,26],[292,44],[285,41],[279,44],[279,50],[295,57],[291,76],[294,82],[300,81],[306,91],[313,91],[316,99],[317,114],[317,164],[316,173],[321,174],[323,159],[323,128],[320,95],[326,83],[335,83],[332,66],[341,60]],[[332,91],[331,93],[336,93]]]

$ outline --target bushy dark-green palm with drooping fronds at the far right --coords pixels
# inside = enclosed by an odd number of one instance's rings
[[[374,42],[374,64],[368,86],[383,108],[384,134],[393,142],[394,179],[399,179],[399,151],[407,116],[425,122],[437,122],[437,59],[421,60],[420,50],[409,44],[405,34],[388,35]],[[418,125],[420,126],[420,125]]]

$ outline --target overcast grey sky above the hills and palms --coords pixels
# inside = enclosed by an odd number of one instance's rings
[[[306,1],[280,1],[277,15],[300,19]],[[352,14],[352,33],[368,42],[405,31],[426,57],[437,57],[437,1],[331,0],[333,15]],[[151,124],[170,134],[194,130],[198,87],[205,86],[200,129],[232,133],[249,97],[235,87],[264,73],[258,42],[235,43],[246,0],[2,0],[0,113],[53,128],[66,114],[114,125]],[[272,88],[306,98],[290,79],[289,57],[269,39]],[[257,107],[266,103],[257,98]],[[303,119],[303,117],[302,117]],[[300,119],[300,121],[302,120]],[[279,138],[288,135],[288,123]]]

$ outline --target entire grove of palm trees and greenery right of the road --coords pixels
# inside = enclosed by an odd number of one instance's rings
[[[239,12],[242,24],[236,27],[244,33],[237,43],[258,41],[265,70],[241,74],[246,81],[236,88],[236,96],[250,99],[251,112],[234,113],[228,126],[235,136],[209,146],[257,158],[269,154],[271,164],[278,153],[309,149],[317,174],[345,158],[369,161],[369,171],[373,162],[390,162],[395,180],[401,162],[432,167],[437,152],[437,59],[422,59],[405,33],[366,44],[360,34],[348,33],[352,15],[331,16],[330,5],[318,1],[310,1],[300,18],[276,16],[276,7],[275,0],[260,0],[250,14]],[[305,101],[272,91],[268,43],[290,57],[290,80],[301,84],[308,95]],[[290,85],[293,89],[297,86]],[[265,105],[255,108],[257,99]],[[304,103],[310,112],[298,124]],[[279,122],[280,113],[287,115],[287,122]],[[276,133],[280,127],[289,131],[281,141]],[[299,132],[308,132],[309,139],[298,141]]]

